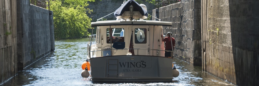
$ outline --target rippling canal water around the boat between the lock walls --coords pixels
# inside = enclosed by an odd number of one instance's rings
[[[137,82],[137,83],[92,83],[81,77],[81,64],[86,60],[89,39],[55,40],[55,51],[41,58],[24,71],[3,83],[3,86],[200,86],[233,85],[202,71],[201,66],[193,66],[174,58],[174,64],[180,71],[179,77],[172,82]]]

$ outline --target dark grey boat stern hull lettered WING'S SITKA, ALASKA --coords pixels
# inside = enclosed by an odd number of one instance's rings
[[[172,58],[118,55],[91,58],[91,80],[115,82],[172,81]]]

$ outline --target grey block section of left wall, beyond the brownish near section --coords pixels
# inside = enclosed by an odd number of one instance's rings
[[[18,70],[50,52],[49,19],[49,10],[29,4],[29,0],[17,1]]]

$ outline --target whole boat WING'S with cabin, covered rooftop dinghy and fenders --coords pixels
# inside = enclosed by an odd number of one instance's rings
[[[91,23],[96,35],[88,42],[82,77],[92,82],[170,82],[179,76],[173,58],[164,57],[161,38],[163,26],[171,22],[143,20],[146,6],[134,0],[125,1],[114,15],[117,20]]]

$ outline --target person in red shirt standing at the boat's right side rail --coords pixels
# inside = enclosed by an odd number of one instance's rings
[[[168,52],[168,51],[173,51],[174,50],[174,47],[175,47],[175,41],[174,41],[174,38],[171,37],[172,36],[172,33],[171,32],[168,32],[167,33],[167,36],[168,37],[163,37],[163,35],[161,34],[161,37],[162,37],[162,40],[163,42],[166,42],[166,47],[165,47],[165,57],[173,57],[171,56],[171,52]],[[171,38],[171,39],[170,39]],[[171,41],[172,40],[172,41]]]

